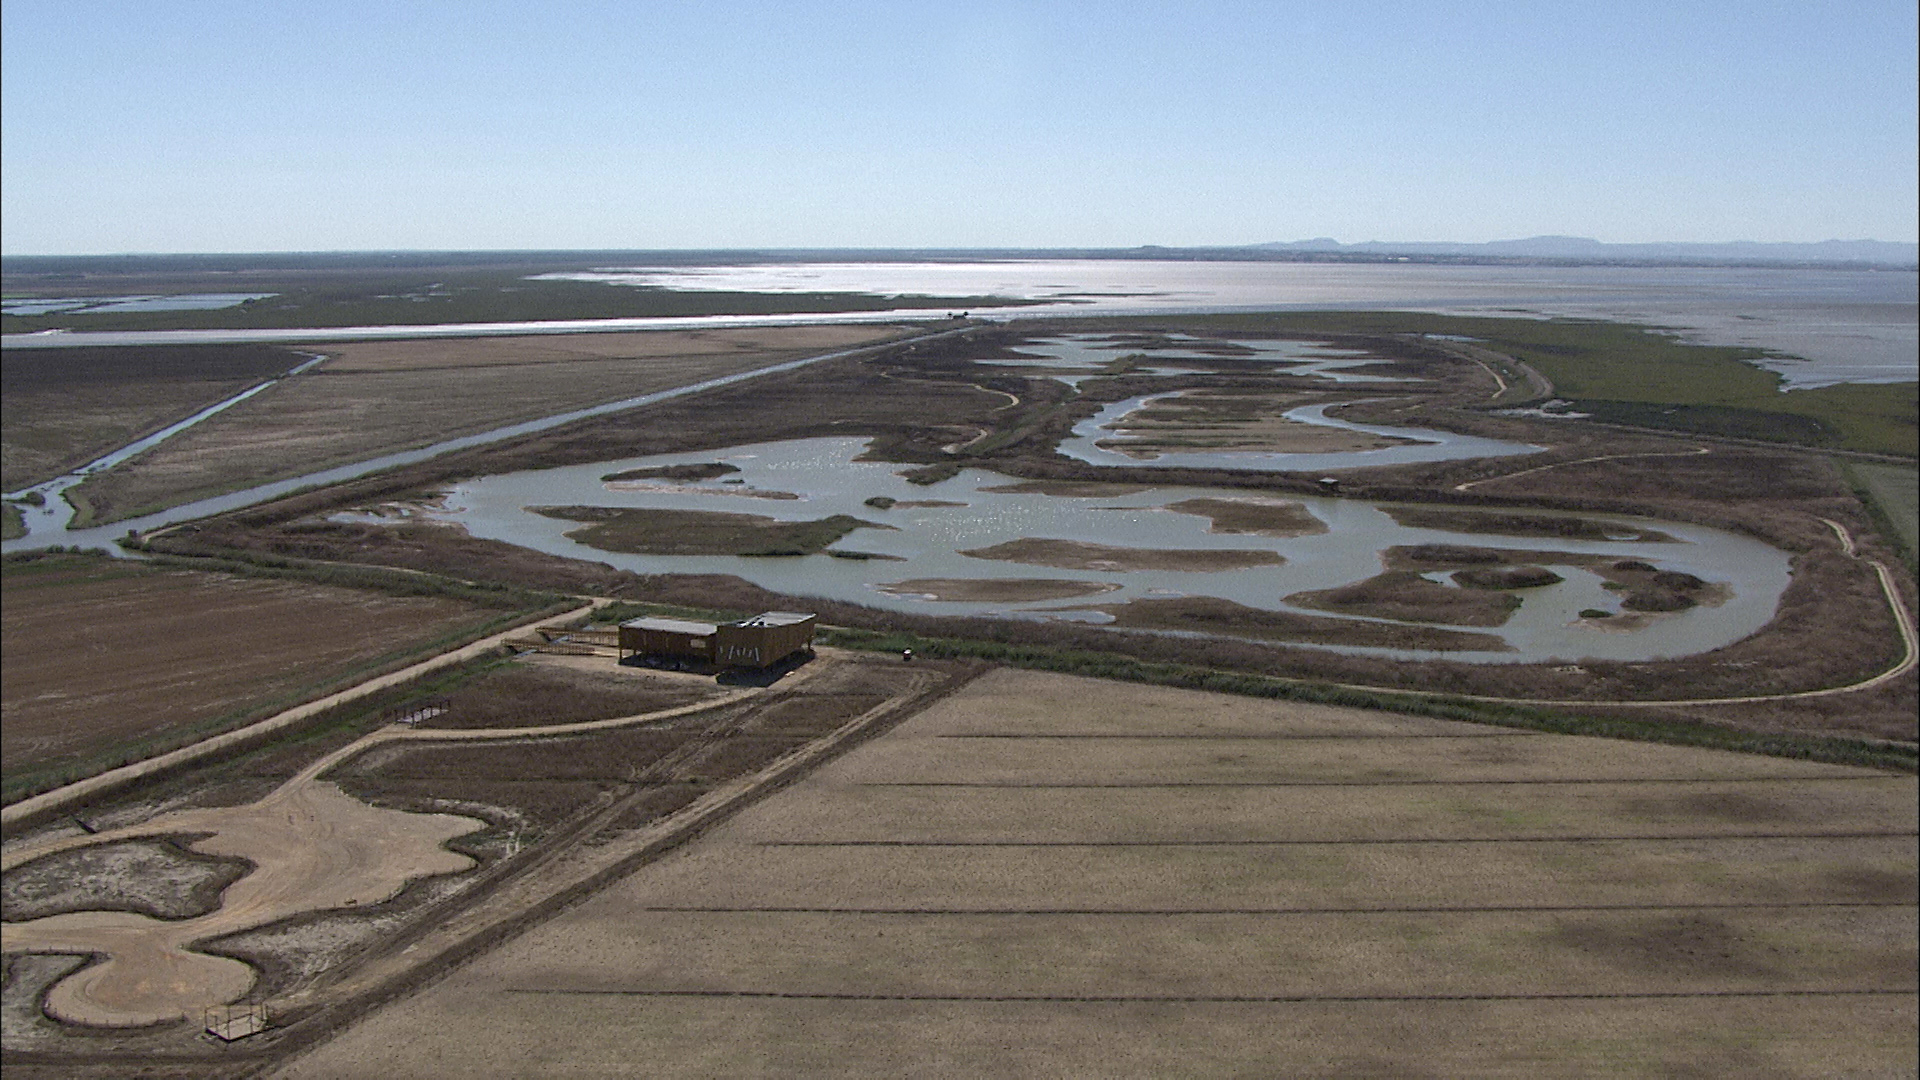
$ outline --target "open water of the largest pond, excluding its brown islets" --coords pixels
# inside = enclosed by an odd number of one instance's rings
[[[774,592],[845,600],[895,611],[927,615],[1002,615],[1031,619],[1106,621],[1104,613],[1069,611],[1071,601],[975,603],[895,596],[879,586],[916,578],[1050,578],[1117,586],[1077,601],[1116,603],[1164,596],[1217,596],[1269,611],[1298,611],[1283,601],[1302,590],[1334,588],[1380,573],[1380,552],[1396,544],[1467,544],[1511,550],[1553,550],[1644,559],[1659,569],[1692,573],[1730,588],[1718,607],[1661,615],[1640,628],[1580,619],[1582,609],[1619,611],[1619,598],[1601,580],[1572,567],[1555,567],[1567,580],[1524,590],[1523,607],[1496,634],[1515,651],[1386,651],[1354,650],[1409,659],[1453,657],[1473,661],[1542,659],[1651,659],[1688,655],[1740,640],[1772,619],[1788,584],[1788,555],[1757,540],[1715,528],[1676,523],[1640,523],[1674,536],[1672,542],[1536,540],[1459,534],[1398,525],[1375,503],[1334,498],[1298,498],[1327,525],[1327,532],[1298,538],[1210,532],[1210,519],[1167,509],[1188,498],[1261,500],[1252,492],[1213,488],[1150,488],[1137,494],[1062,498],[1048,494],[995,492],[1016,480],[983,469],[966,469],[933,486],[916,486],[897,475],[902,465],[856,461],[858,438],[812,438],[737,446],[720,452],[666,454],[486,477],[459,484],[445,500],[445,521],[482,538],[505,540],[555,555],[605,561],[636,573],[737,575]],[[714,480],[607,482],[607,473],[726,461],[739,473]],[[774,494],[797,498],[770,498]],[[939,500],[964,505],[876,509],[868,498],[899,502]],[[893,555],[893,559],[733,557],[733,555],[628,555],[601,552],[564,536],[580,528],[528,513],[528,505],[612,505],[653,509],[708,509],[756,513],[780,521],[812,521],[835,513],[891,528],[860,528],[835,548]],[[1601,517],[1622,523],[1634,519]],[[1079,540],[1121,548],[1156,550],[1267,550],[1284,565],[1235,571],[1092,571],[1054,569],[960,555],[1020,538]]]

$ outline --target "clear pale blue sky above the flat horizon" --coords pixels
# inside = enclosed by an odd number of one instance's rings
[[[6,254],[1914,240],[1916,6],[0,6]]]

